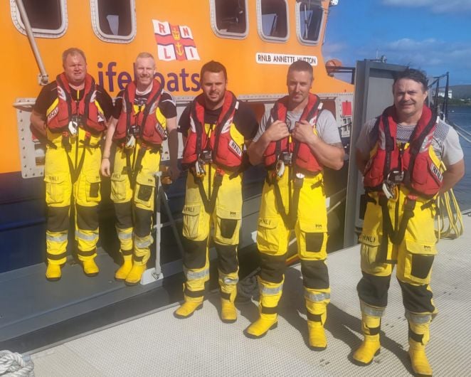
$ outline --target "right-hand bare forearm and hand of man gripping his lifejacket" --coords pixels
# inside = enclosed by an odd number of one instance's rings
[[[317,161],[322,166],[327,166],[334,170],[342,169],[344,166],[344,147],[342,143],[327,144],[312,132],[312,125],[306,120],[297,122],[292,132],[298,142],[303,142],[309,146]]]

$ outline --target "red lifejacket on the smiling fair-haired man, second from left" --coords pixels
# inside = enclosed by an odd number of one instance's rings
[[[157,80],[152,84],[152,90],[147,96],[144,110],[134,112],[134,97],[136,96],[136,84],[129,83],[124,91],[122,99],[122,110],[116,124],[113,140],[118,144],[125,142],[129,127],[139,127],[137,139],[151,145],[160,145],[166,139],[166,131],[155,112],[159,106],[162,95],[162,85]]]

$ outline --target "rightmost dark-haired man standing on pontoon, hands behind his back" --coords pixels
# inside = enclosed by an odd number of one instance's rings
[[[457,133],[424,105],[427,79],[418,70],[398,73],[394,105],[365,124],[356,144],[368,203],[361,243],[357,290],[364,341],[354,360],[368,365],[379,354],[381,317],[388,302],[391,272],[401,286],[413,371],[432,376],[425,356],[429,324],[437,313],[430,272],[437,253],[435,195],[452,188],[464,172]],[[440,173],[440,161],[446,171]]]

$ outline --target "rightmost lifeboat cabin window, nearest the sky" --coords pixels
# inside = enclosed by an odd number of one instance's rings
[[[323,18],[324,9],[320,1],[302,0],[296,4],[296,31],[301,43],[319,43]]]

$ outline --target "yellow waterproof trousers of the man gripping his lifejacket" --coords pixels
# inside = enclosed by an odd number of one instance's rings
[[[272,172],[268,172],[271,176]],[[277,312],[285,279],[285,262],[290,224],[280,213],[290,211],[294,196],[294,184],[290,168],[277,183],[265,182],[258,218],[257,245],[260,251],[260,311]],[[277,184],[282,207],[276,196]],[[291,199],[290,199],[291,198]],[[300,188],[297,216],[294,223],[297,253],[305,286],[307,319],[324,323],[327,304],[330,301],[329,272],[327,270],[327,208],[322,185],[322,174],[305,177]],[[270,299],[268,299],[270,297]],[[270,307],[265,307],[265,302]]]

